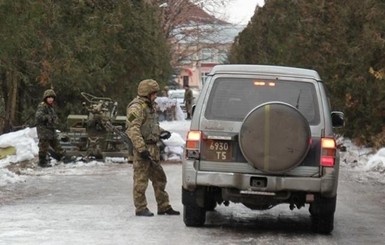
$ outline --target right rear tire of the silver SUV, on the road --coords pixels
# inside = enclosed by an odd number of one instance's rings
[[[312,230],[320,234],[330,234],[334,229],[334,213],[337,197],[318,197],[310,204]]]

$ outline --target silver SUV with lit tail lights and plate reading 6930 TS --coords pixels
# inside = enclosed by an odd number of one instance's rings
[[[339,151],[332,112],[314,70],[218,65],[210,72],[186,138],[182,202],[186,226],[202,226],[216,205],[253,210],[310,204],[313,230],[330,233]]]

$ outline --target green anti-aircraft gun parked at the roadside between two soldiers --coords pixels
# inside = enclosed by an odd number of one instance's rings
[[[111,98],[82,92],[84,114],[67,117],[68,132],[59,134],[67,155],[102,159],[128,157],[131,141],[124,133],[126,116],[117,115],[118,103]]]

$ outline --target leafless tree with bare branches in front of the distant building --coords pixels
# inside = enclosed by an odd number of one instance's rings
[[[202,50],[224,49],[232,42],[223,35],[226,29],[234,28],[220,15],[231,0],[148,0],[159,7],[164,34],[171,45],[173,67],[188,62],[200,62]],[[210,57],[208,57],[210,58]]]

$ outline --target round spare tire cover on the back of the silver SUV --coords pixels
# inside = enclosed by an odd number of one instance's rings
[[[246,160],[266,173],[284,173],[298,166],[310,148],[310,126],[293,106],[269,102],[243,120],[239,145]]]

